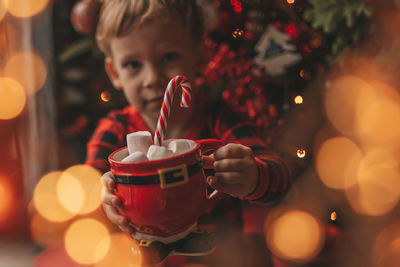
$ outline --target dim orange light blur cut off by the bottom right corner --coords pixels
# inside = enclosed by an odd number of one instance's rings
[[[377,236],[372,253],[374,267],[400,266],[400,223],[383,229]]]

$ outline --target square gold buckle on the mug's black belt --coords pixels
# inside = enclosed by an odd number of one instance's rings
[[[187,183],[189,180],[186,164],[158,169],[158,175],[160,176],[160,186],[162,189],[178,186]]]

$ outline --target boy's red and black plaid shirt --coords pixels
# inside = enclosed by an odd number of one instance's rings
[[[268,204],[279,200],[288,191],[291,175],[288,166],[256,135],[255,128],[241,116],[229,111],[224,105],[212,106],[206,102],[199,103],[193,125],[189,128],[185,139],[218,138],[226,143],[240,143],[250,147],[258,165],[260,178],[257,188],[244,200],[256,204]],[[100,120],[91,140],[87,144],[86,164],[96,167],[102,172],[109,171],[108,155],[116,149],[126,146],[126,135],[136,131],[149,131],[140,113],[128,106],[122,110],[110,112]],[[227,197],[230,198],[230,197]],[[238,199],[231,202],[216,213],[236,214],[243,219],[244,232],[262,231],[266,209],[248,205]],[[247,202],[244,201],[244,202]],[[231,208],[238,207],[240,212]],[[245,207],[245,208],[243,208]],[[238,217],[238,216],[233,217]],[[220,216],[218,216],[220,217]],[[232,217],[232,216],[230,216]],[[208,221],[208,220],[206,220]]]

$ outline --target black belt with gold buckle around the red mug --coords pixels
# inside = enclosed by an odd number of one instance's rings
[[[203,167],[202,161],[192,165],[176,165],[174,167],[158,169],[158,174],[151,175],[114,175],[117,184],[124,185],[155,185],[160,184],[161,188],[168,188],[186,183],[189,177],[199,172]]]

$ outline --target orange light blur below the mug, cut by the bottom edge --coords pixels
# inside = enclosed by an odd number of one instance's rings
[[[110,249],[107,255],[94,265],[94,267],[109,266],[141,266],[142,258],[138,244],[125,233],[113,233],[110,236]]]

